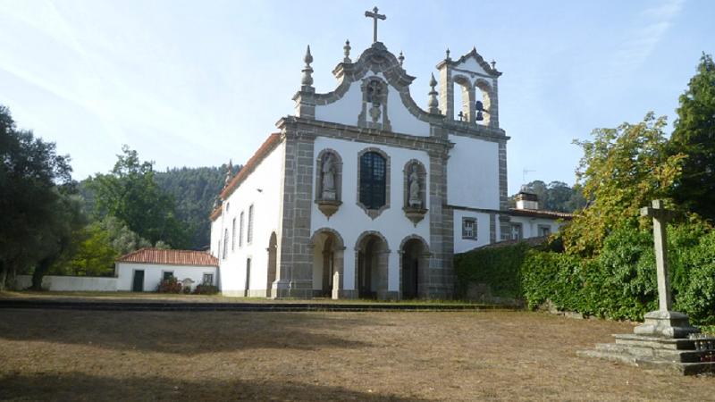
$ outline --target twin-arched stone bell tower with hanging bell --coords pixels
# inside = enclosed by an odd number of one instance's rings
[[[497,81],[501,72],[496,70],[496,62],[486,63],[475,47],[458,60],[452,60],[447,49],[437,70],[440,71],[440,112],[448,120],[499,128]],[[455,92],[461,95],[458,105],[455,105]]]

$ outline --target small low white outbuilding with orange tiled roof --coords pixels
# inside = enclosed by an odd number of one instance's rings
[[[218,260],[203,251],[142,248],[119,258],[114,270],[119,291],[156,291],[171,277],[189,286],[218,286]]]

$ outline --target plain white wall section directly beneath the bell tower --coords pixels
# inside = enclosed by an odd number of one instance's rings
[[[498,210],[499,144],[456,135],[450,135],[450,141],[454,147],[447,162],[447,202]]]

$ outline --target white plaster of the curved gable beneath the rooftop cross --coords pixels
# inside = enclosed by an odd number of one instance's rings
[[[366,77],[380,77],[383,74],[372,74]],[[350,126],[357,126],[357,117],[362,112],[363,93],[360,81],[353,82],[348,91],[340,99],[328,105],[315,106],[315,120],[332,121]],[[430,125],[418,120],[402,103],[397,88],[388,85],[387,114],[393,132],[428,137]]]

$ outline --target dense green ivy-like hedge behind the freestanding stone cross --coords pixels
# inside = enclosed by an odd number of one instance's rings
[[[658,308],[652,244],[650,231],[622,228],[593,258],[524,243],[475,250],[455,257],[457,291],[484,283],[496,296],[524,298],[529,308],[549,300],[559,310],[641,320]],[[669,273],[674,310],[715,324],[715,231],[700,223],[670,227]]]

